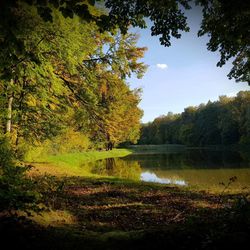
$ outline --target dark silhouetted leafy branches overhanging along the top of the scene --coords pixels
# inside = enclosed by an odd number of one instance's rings
[[[57,8],[64,17],[73,18],[74,15],[78,15],[88,22],[94,21],[102,31],[112,31],[119,27],[122,33],[126,33],[130,25],[145,28],[145,18],[149,18],[153,23],[152,35],[159,35],[161,44],[165,46],[171,45],[171,36],[180,38],[180,31],[189,30],[184,10],[191,8],[190,0],[160,2],[106,0],[104,1],[106,13],[93,12],[93,6],[100,0],[2,0],[0,10],[3,18],[0,21],[0,29],[10,27],[10,25],[15,26],[15,21],[12,20],[13,8],[18,2],[27,2],[36,6],[38,14],[46,21],[54,20],[52,10]],[[229,78],[250,83],[249,1],[196,0],[195,3],[203,9],[203,20],[198,35],[208,34],[210,37],[208,49],[219,50],[221,60],[217,65],[222,66],[227,60],[233,58],[234,66],[228,75]],[[4,40],[17,48],[23,45],[22,40],[16,39],[9,31],[5,32]]]

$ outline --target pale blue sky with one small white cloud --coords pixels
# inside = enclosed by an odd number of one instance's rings
[[[232,64],[222,68],[216,63],[218,52],[207,50],[208,37],[197,37],[201,14],[198,9],[187,12],[190,32],[181,39],[171,38],[171,46],[160,45],[158,37],[152,37],[150,28],[133,28],[139,34],[138,47],[147,47],[141,60],[148,70],[142,79],[128,79],[131,88],[142,88],[139,107],[144,111],[142,122],[153,121],[168,112],[181,113],[188,106],[218,100],[219,96],[235,96],[239,91],[250,90],[247,83],[229,80]]]

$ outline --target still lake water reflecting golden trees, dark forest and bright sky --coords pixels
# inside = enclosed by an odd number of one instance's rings
[[[123,158],[97,161],[91,172],[102,176],[156,182],[201,189],[250,188],[249,152],[184,150],[136,153]]]

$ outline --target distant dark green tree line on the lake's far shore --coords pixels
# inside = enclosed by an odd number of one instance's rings
[[[138,144],[250,144],[250,91],[169,112],[142,125]]]

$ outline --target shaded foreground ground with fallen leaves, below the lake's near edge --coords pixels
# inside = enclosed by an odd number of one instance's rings
[[[1,218],[1,242],[24,249],[247,249],[247,194],[209,194],[112,178],[36,177],[49,208]]]

